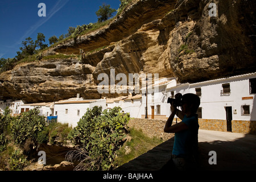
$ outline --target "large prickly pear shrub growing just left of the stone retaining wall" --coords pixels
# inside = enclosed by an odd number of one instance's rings
[[[70,137],[86,158],[77,168],[84,170],[108,170],[114,167],[116,152],[124,143],[129,114],[123,114],[121,107],[104,110],[95,106],[71,131]],[[73,152],[74,154],[74,152]],[[72,158],[69,157],[69,158]],[[90,165],[86,165],[86,164]]]

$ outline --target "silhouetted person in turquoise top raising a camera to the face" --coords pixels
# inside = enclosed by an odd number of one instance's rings
[[[197,109],[200,98],[196,94],[177,93],[174,98],[168,98],[171,104],[171,115],[164,127],[165,133],[175,133],[174,147],[172,149],[172,162],[178,170],[196,168],[197,146],[198,146],[198,117]],[[181,110],[177,107],[181,106]],[[181,122],[172,125],[175,114]]]

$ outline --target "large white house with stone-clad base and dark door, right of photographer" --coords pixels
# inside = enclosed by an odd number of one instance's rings
[[[256,73],[167,88],[168,97],[176,93],[195,93],[200,97],[197,113],[202,127],[238,133],[255,130]]]

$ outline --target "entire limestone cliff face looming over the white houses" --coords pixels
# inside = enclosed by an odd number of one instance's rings
[[[217,16],[209,16],[216,3]],[[80,93],[99,94],[100,73],[158,73],[179,82],[197,82],[256,71],[255,1],[134,1],[112,23],[47,49],[78,55],[82,60],[48,59],[22,63],[0,75],[5,97],[27,102],[57,101]]]

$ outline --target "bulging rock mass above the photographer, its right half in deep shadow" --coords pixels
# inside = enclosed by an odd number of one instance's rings
[[[209,16],[212,2],[216,17]],[[254,7],[253,1],[179,1],[159,23],[179,81],[255,72]]]

